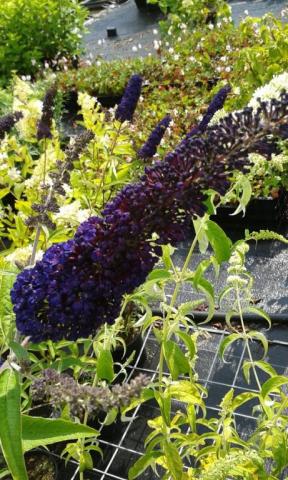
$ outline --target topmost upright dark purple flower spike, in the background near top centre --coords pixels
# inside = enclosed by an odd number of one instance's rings
[[[131,122],[141,94],[142,78],[132,75],[115,113],[116,120]]]

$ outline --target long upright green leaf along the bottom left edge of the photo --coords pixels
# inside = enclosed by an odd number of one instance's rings
[[[0,375],[0,441],[13,480],[28,480],[21,443],[19,373],[7,368]]]

